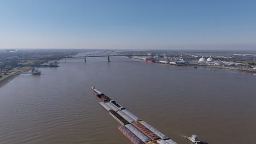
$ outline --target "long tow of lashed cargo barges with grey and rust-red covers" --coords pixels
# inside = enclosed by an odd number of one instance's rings
[[[125,107],[121,106],[116,101],[107,97],[95,86],[91,88],[97,93],[96,98],[99,103],[112,117],[117,119],[123,126],[118,129],[134,144],[177,144],[170,137],[162,134],[147,122],[142,121],[141,118],[133,115]],[[199,144],[199,143],[198,143]]]

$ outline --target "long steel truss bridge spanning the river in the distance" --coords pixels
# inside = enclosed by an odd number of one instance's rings
[[[65,61],[67,62],[67,59],[84,59],[84,62],[86,62],[86,57],[108,57],[108,62],[110,62],[109,57],[116,57],[116,56],[127,56],[127,57],[132,57],[132,56],[143,56],[143,57],[150,57],[152,59],[158,59],[160,57],[178,57],[180,55],[171,55],[166,53],[161,53],[161,52],[156,52],[156,51],[131,51],[131,52],[117,52],[117,51],[112,51],[112,50],[106,50],[103,52],[97,52],[97,53],[88,53],[85,56],[74,56],[74,57],[65,57]]]

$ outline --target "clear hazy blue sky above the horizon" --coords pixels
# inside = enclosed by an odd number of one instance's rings
[[[0,0],[0,49],[256,49],[256,1]]]

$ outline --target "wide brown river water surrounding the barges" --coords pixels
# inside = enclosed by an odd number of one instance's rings
[[[139,118],[189,144],[256,143],[256,76],[125,57],[60,61],[0,88],[0,143],[131,143],[92,85]]]

